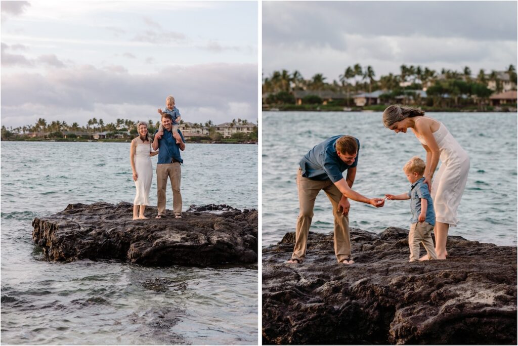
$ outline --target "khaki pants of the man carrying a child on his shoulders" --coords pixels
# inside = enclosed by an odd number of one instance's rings
[[[172,188],[172,210],[175,215],[182,213],[182,194],[180,193],[180,178],[182,168],[179,162],[165,163],[156,165],[156,189],[158,197],[158,214],[165,214],[165,189],[167,187],[167,178],[171,180]]]

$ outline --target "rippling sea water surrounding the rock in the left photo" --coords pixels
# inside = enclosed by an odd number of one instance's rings
[[[69,203],[133,202],[130,143],[2,142],[1,150],[2,343],[257,344],[257,265],[49,263],[34,245],[36,217]],[[182,157],[184,210],[257,208],[257,146],[188,144]],[[156,206],[155,178],[150,199]]]

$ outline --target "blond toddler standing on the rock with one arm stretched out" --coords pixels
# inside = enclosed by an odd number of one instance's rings
[[[428,253],[428,258],[424,257],[423,259],[437,259],[434,242],[431,239],[431,231],[434,230],[435,225],[435,211],[428,185],[423,183],[425,167],[426,165],[420,157],[412,157],[403,167],[408,181],[412,184],[410,191],[396,196],[385,195],[386,199],[410,199],[410,210],[412,212],[412,224],[408,233],[410,262],[419,260],[420,243],[423,243]]]

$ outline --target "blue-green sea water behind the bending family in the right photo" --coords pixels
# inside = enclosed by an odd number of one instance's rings
[[[500,246],[516,246],[516,113],[429,113],[448,127],[468,152],[471,167],[449,235]],[[381,112],[263,112],[262,240],[277,243],[294,232],[299,212],[296,173],[300,159],[319,142],[340,134],[360,141],[353,189],[367,197],[400,194],[410,188],[402,167],[426,152],[409,131],[396,134]],[[440,163],[439,163],[440,165]],[[387,200],[382,208],[351,200],[351,227],[382,232],[410,227],[408,200]],[[316,198],[311,230],[333,230],[324,192]]]

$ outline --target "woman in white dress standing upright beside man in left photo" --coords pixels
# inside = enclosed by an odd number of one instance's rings
[[[158,154],[158,151],[151,150],[151,141],[148,134],[148,124],[141,121],[137,124],[139,136],[131,141],[130,162],[133,170],[133,180],[137,188],[137,195],[133,201],[133,220],[147,219],[144,216],[146,206],[149,206],[149,189],[153,167],[151,156]],[[140,207],[140,213],[138,209]]]

